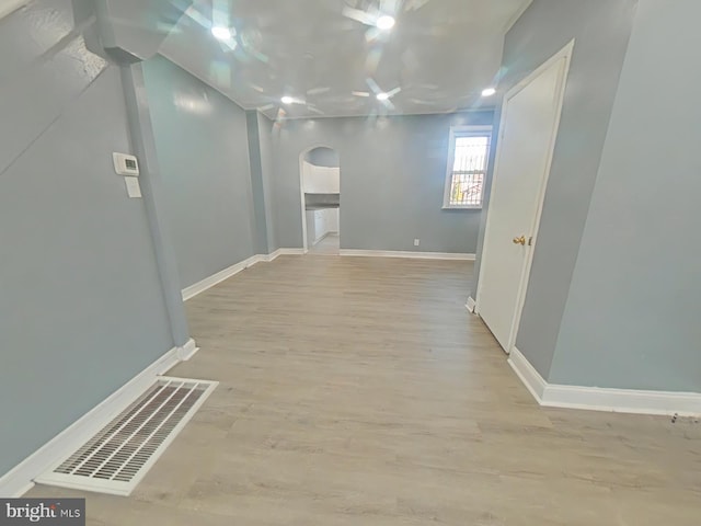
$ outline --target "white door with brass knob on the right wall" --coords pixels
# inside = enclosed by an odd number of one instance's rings
[[[571,53],[572,44],[504,98],[475,310],[507,353],[520,320]]]

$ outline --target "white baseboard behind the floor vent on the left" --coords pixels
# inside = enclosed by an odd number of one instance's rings
[[[0,477],[0,498],[19,498],[34,487],[34,479],[60,458],[78,449],[112,419],[129,405],[153,380],[197,351],[194,340],[182,347],[173,347],[131,380],[110,395],[88,413],[44,444],[22,462]]]

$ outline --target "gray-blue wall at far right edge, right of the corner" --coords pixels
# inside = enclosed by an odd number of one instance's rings
[[[552,382],[701,391],[700,20],[640,0]]]

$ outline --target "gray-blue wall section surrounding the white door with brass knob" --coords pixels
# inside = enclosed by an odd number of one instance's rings
[[[502,93],[575,38],[516,339],[517,348],[544,378],[555,352],[635,5],[636,0],[533,0],[505,39]],[[484,222],[475,271],[483,235]]]

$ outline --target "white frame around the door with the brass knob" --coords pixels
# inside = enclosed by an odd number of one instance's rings
[[[533,248],[536,245],[536,242],[538,240],[538,229],[540,227],[540,217],[542,215],[543,211],[543,201],[545,197],[545,190],[548,188],[548,180],[550,178],[550,169],[552,165],[552,158],[554,155],[554,150],[555,150],[555,141],[558,140],[558,130],[560,128],[560,117],[562,115],[562,106],[563,106],[563,102],[564,102],[564,94],[565,94],[565,87],[566,87],[566,81],[567,81],[567,75],[570,72],[570,62],[572,61],[572,52],[574,49],[574,38],[572,41],[570,41],[570,43],[563,47],[561,50],[559,50],[555,55],[553,55],[552,57],[550,57],[548,60],[545,60],[542,65],[540,65],[533,72],[531,72],[529,76],[527,76],[524,80],[521,80],[520,82],[518,82],[514,88],[512,88],[510,90],[508,90],[506,92],[506,94],[504,95],[504,101],[502,103],[502,117],[499,119],[499,139],[497,140],[497,145],[496,145],[496,158],[494,161],[494,171],[492,174],[492,195],[490,197],[490,201],[494,197],[494,193],[496,191],[496,181],[498,178],[498,171],[499,171],[499,159],[503,155],[502,151],[502,137],[504,136],[504,126],[506,125],[506,119],[508,116],[508,103],[509,101],[516,96],[516,94],[518,94],[524,88],[526,88],[528,84],[530,84],[533,80],[536,80],[538,77],[540,77],[545,70],[548,70],[551,66],[553,66],[555,62],[558,62],[559,60],[564,59],[565,64],[564,64],[564,68],[562,70],[562,75],[558,81],[558,87],[555,88],[555,94],[558,96],[558,106],[556,106],[556,113],[555,113],[555,119],[554,119],[554,126],[552,129],[552,135],[550,137],[550,145],[548,146],[548,160],[545,163],[545,173],[543,174],[543,179],[542,179],[542,184],[539,191],[539,196],[538,196],[538,208],[536,211],[536,217],[533,218],[533,224],[531,225],[531,229],[529,230],[530,232],[532,232],[532,244],[529,247],[528,253],[526,254],[526,262],[524,264],[524,268],[521,272],[521,277],[519,281],[519,287],[518,287],[518,294],[517,294],[517,302],[516,302],[516,312],[514,315],[514,320],[512,321],[512,329],[509,331],[509,336],[508,336],[508,344],[506,346],[506,348],[504,350],[507,354],[509,354],[512,352],[512,348],[514,348],[514,345],[516,344],[516,335],[518,333],[518,328],[521,321],[521,313],[524,310],[524,302],[526,300],[526,290],[528,289],[528,278],[530,277],[530,268],[533,262]],[[485,229],[484,229],[484,242],[483,242],[483,251],[482,251],[482,264],[480,266],[480,274],[482,274],[482,270],[485,267],[485,264],[489,264],[489,251],[487,249],[487,237],[490,235],[490,219],[491,219],[491,209],[487,208],[487,215],[486,215],[486,225],[485,225]],[[481,288],[482,288],[482,283],[483,281],[480,279],[478,277],[478,291],[476,291],[476,296],[475,296],[475,308],[474,308],[474,312],[475,313],[480,313],[480,299],[481,299]]]

